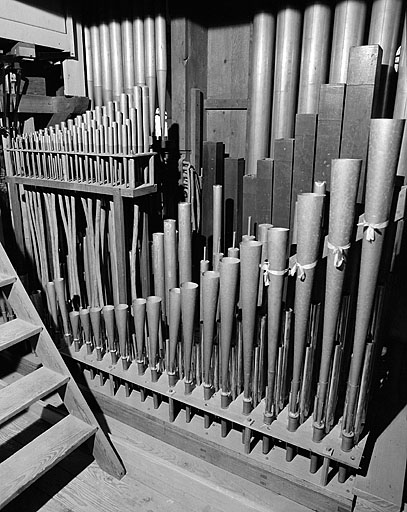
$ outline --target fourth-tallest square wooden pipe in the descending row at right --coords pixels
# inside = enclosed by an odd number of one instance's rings
[[[274,143],[274,178],[271,222],[280,228],[290,227],[291,183],[294,139],[277,139]]]

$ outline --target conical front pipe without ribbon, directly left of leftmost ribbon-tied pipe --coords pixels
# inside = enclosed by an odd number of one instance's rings
[[[243,330],[243,414],[252,410],[251,376],[262,243],[240,244],[240,304]]]

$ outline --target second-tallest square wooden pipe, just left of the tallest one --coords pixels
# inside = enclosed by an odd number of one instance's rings
[[[321,85],[314,181],[326,181],[328,190],[331,181],[331,160],[339,158],[344,98],[344,84]]]

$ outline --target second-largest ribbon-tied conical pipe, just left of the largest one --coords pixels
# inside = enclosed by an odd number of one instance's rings
[[[362,160],[334,159],[331,165],[328,259],[325,285],[324,327],[314,411],[314,441],[324,436],[326,398],[338,323],[346,257],[355,219],[356,196]]]

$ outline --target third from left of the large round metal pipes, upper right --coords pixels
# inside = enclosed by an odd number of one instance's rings
[[[331,14],[331,0],[312,0],[305,7],[298,91],[299,114],[318,112],[319,89],[328,78]]]

